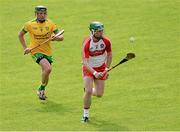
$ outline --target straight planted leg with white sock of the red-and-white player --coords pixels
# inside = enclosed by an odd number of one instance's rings
[[[84,111],[83,111],[83,122],[87,122],[89,118],[89,109],[91,106],[91,96],[92,96],[92,87],[93,87],[93,77],[85,76],[84,80]]]

